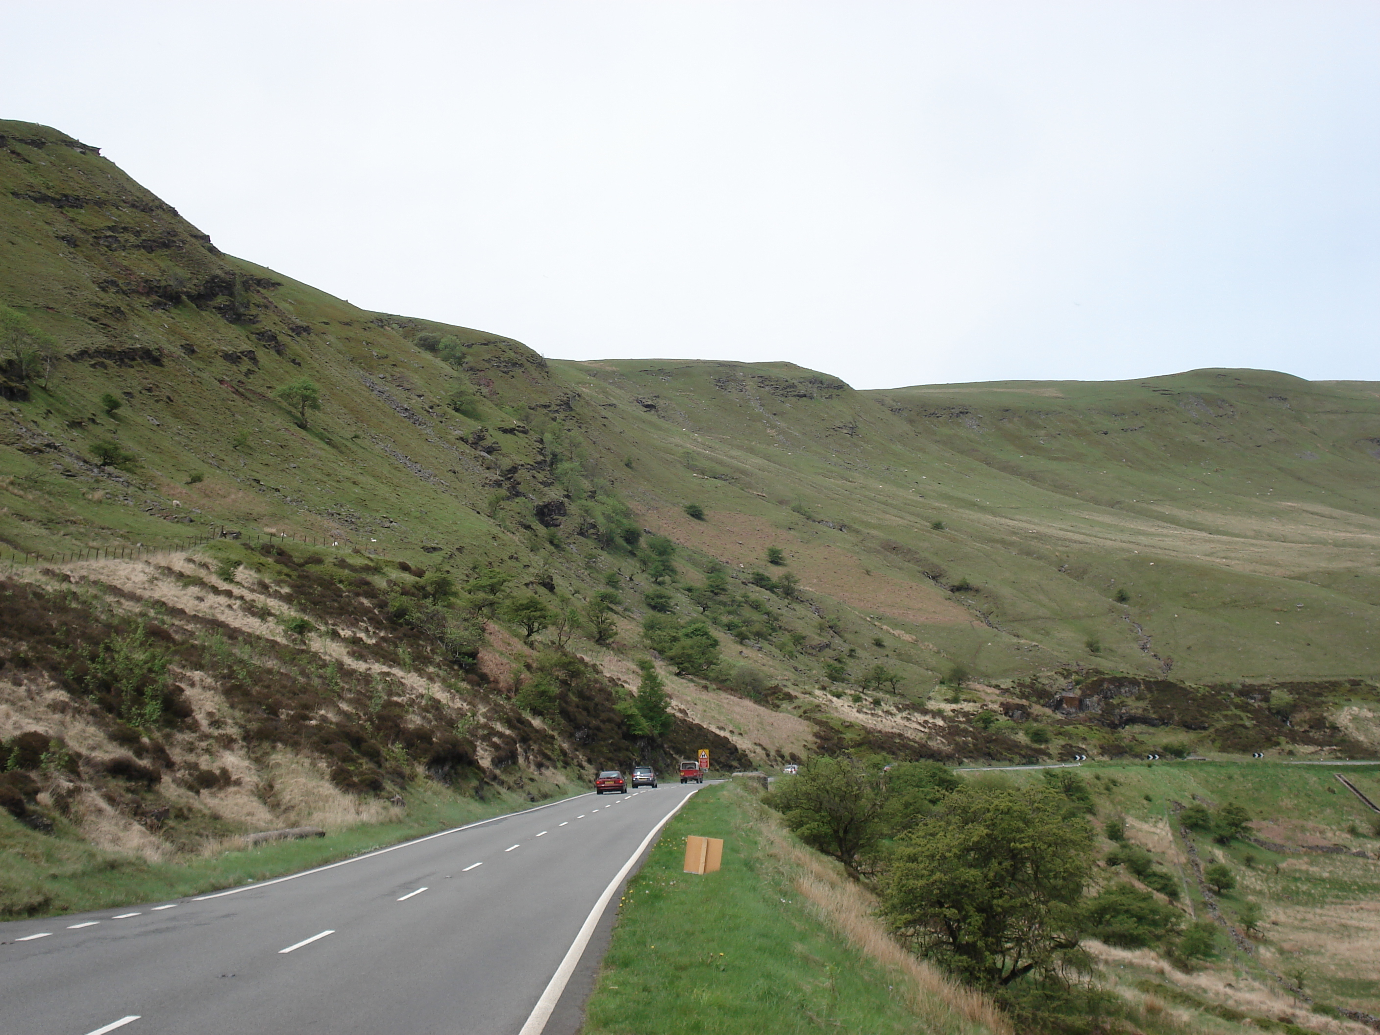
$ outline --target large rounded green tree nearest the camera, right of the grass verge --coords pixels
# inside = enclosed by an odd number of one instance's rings
[[[977,985],[1081,962],[1093,831],[1054,792],[969,784],[905,834],[882,912],[915,949]]]

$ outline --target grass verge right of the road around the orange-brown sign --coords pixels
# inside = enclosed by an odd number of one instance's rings
[[[682,872],[687,835],[723,838],[718,874]],[[629,882],[586,1017],[585,1035],[1010,1032],[887,938],[865,893],[737,784],[697,793]]]

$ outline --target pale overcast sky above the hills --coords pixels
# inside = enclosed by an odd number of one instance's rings
[[[1376,0],[0,12],[0,117],[545,356],[1380,379]]]

